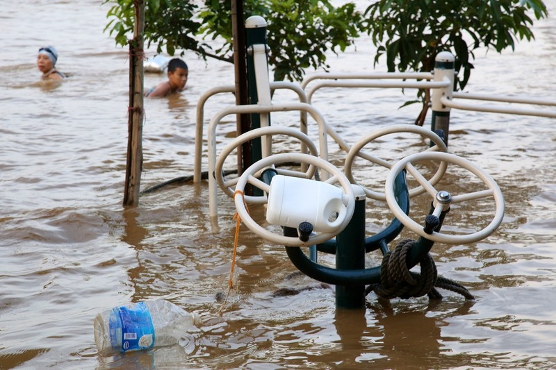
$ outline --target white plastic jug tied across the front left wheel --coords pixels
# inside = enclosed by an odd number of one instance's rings
[[[341,188],[322,181],[276,175],[270,181],[266,221],[297,228],[303,221],[313,230],[332,233],[347,214]]]

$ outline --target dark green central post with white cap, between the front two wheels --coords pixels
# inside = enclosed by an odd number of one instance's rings
[[[365,269],[365,192],[352,185],[355,210],[349,224],[336,235],[336,269]],[[336,308],[365,307],[365,285],[336,285]]]

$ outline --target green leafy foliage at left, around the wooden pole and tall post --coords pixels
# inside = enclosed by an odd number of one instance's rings
[[[145,42],[166,49],[192,50],[204,58],[233,62],[231,1],[144,0]],[[117,44],[133,32],[133,0],[106,0],[113,6],[105,28]],[[268,23],[269,63],[275,80],[301,80],[307,67],[327,67],[325,53],[343,51],[359,35],[361,14],[354,4],[335,8],[327,0],[244,0],[244,19],[261,15]],[[204,40],[211,40],[211,45]]]

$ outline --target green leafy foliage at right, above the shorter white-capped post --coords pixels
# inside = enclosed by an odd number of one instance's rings
[[[463,90],[475,49],[500,53],[513,50],[516,40],[534,38],[531,10],[537,19],[547,14],[541,0],[379,0],[366,9],[363,28],[377,46],[375,65],[386,56],[389,71],[430,72],[437,53],[452,52]]]

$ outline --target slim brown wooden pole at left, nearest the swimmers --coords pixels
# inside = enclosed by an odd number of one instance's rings
[[[124,205],[138,205],[141,183],[145,3],[135,0],[133,40],[129,40],[129,108]]]

